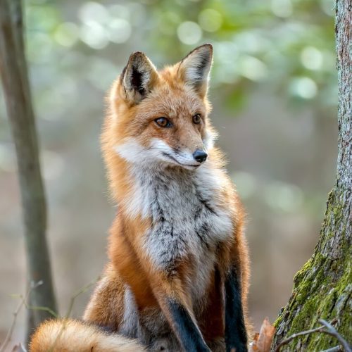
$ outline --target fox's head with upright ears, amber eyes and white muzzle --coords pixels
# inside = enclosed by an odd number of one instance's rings
[[[113,151],[127,163],[189,170],[205,163],[214,136],[207,100],[212,60],[210,44],[163,70],[142,52],[132,54],[108,95],[106,158]]]

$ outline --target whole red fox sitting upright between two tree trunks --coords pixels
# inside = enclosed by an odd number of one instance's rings
[[[244,210],[213,146],[212,61],[210,44],[160,71],[130,56],[101,136],[110,263],[83,322],[44,322],[30,351],[247,351]]]

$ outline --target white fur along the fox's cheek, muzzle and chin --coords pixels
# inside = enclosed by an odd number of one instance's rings
[[[140,165],[173,164],[188,170],[196,170],[201,165],[194,160],[189,151],[175,152],[161,139],[151,139],[150,146],[145,147],[130,138],[115,146],[114,150],[126,161]]]

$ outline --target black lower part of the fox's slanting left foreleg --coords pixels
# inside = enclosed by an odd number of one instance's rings
[[[210,352],[198,327],[191,320],[186,308],[173,300],[167,302],[171,320],[183,351]]]

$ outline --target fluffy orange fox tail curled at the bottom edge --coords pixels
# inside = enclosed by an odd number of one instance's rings
[[[30,342],[30,352],[134,352],[146,351],[136,340],[108,334],[78,320],[47,320],[39,325]]]

